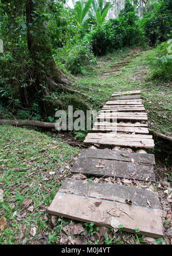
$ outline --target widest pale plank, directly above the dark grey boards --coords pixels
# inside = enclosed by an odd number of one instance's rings
[[[122,136],[123,135],[123,136]],[[154,148],[154,140],[150,138],[138,138],[130,134],[122,134],[117,138],[113,133],[88,133],[85,143],[99,143],[102,145],[131,146],[136,148]],[[129,137],[124,137],[129,135]],[[141,135],[140,135],[141,136]],[[142,135],[145,136],[145,135]]]

